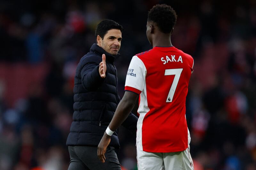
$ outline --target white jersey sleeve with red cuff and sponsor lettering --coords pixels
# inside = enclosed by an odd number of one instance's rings
[[[140,94],[146,82],[147,69],[138,56],[133,56],[125,80],[125,91]]]

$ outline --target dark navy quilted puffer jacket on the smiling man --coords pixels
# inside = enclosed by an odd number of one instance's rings
[[[106,77],[99,74],[102,54],[106,55]],[[67,145],[98,146],[120,101],[117,94],[115,56],[93,44],[76,68],[74,86],[74,114]],[[122,124],[136,132],[137,117],[132,113]],[[110,146],[120,147],[117,131],[112,135]]]

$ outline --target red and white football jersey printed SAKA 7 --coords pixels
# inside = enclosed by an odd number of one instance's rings
[[[140,94],[137,148],[179,152],[188,148],[185,117],[193,58],[175,47],[154,47],[132,57],[125,90]]]

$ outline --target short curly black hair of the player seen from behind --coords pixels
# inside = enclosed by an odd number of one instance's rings
[[[157,4],[148,12],[148,21],[155,22],[163,33],[171,33],[176,20],[176,12],[166,4]]]

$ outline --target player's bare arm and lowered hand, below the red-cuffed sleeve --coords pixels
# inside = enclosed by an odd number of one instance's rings
[[[116,108],[116,112],[109,123],[108,128],[112,131],[115,131],[128,117],[132,108],[135,105],[135,102],[138,98],[139,94],[134,92],[125,91],[123,99],[120,101]],[[110,143],[110,137],[106,132],[100,140],[100,144],[98,145],[98,157],[102,162],[105,162],[105,152]]]

